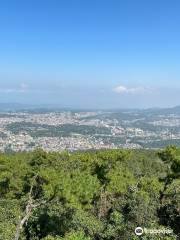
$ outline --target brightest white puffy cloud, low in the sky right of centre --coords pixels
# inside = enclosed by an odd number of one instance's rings
[[[123,85],[119,85],[113,89],[113,92],[123,94],[143,94],[148,92],[148,89],[145,87],[126,87]]]

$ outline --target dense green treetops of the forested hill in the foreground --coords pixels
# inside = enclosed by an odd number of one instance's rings
[[[0,239],[180,239],[180,149],[1,154]]]

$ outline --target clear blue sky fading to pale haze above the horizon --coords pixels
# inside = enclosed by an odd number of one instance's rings
[[[178,0],[6,0],[0,102],[180,105]]]

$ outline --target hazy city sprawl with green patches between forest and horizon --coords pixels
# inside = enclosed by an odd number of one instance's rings
[[[161,148],[180,145],[179,108],[1,112],[0,151]]]

